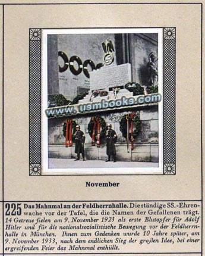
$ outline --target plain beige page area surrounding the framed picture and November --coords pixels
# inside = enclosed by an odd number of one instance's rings
[[[4,200],[201,199],[201,5],[9,3],[4,5]],[[176,27],[175,176],[29,176],[29,28],[61,27]],[[86,188],[86,181],[108,180],[119,188]]]

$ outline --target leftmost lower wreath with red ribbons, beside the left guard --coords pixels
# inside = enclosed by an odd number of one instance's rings
[[[72,134],[75,133],[77,123],[72,119],[67,119],[64,121],[64,125],[62,127],[62,132],[65,137],[65,146],[72,146]]]

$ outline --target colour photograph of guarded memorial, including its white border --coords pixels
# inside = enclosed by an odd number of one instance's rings
[[[162,172],[162,31],[43,30],[48,171]]]

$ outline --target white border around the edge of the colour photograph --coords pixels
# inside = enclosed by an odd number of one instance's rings
[[[170,31],[172,32],[170,35]],[[174,31],[174,37],[173,37]],[[169,33],[168,33],[169,32]],[[174,111],[172,116],[168,117],[166,124],[172,123],[175,120],[175,28],[120,28],[120,29],[30,29],[30,175],[42,175],[48,174],[68,174],[68,175],[90,175],[86,168],[70,168],[70,169],[49,169],[48,168],[48,118],[45,115],[47,108],[47,88],[48,88],[48,65],[47,65],[47,36],[52,34],[83,34],[83,33],[158,33],[158,49],[159,49],[159,93],[162,95],[162,101],[159,102],[159,167],[143,167],[143,168],[111,168],[112,170],[103,170],[105,168],[92,168],[92,174],[175,174],[175,129],[172,129],[172,145],[165,145],[163,131],[165,130],[165,119],[167,115],[165,113],[166,106],[166,80],[174,83],[174,93],[169,93],[169,99],[172,97],[172,108]],[[34,35],[36,37],[34,37]],[[174,56],[173,52],[171,57],[169,56],[169,42],[173,45],[174,41]],[[167,46],[168,45],[168,46]],[[166,48],[166,49],[165,49]],[[173,47],[172,47],[173,48]],[[168,51],[168,52],[166,52]],[[166,60],[165,60],[165,56]],[[171,60],[172,58],[172,60]],[[174,62],[173,62],[174,58]],[[166,64],[166,65],[165,65]],[[169,66],[167,68],[166,66]],[[172,67],[172,73],[169,73],[170,66]],[[173,73],[174,69],[174,73]],[[40,81],[39,81],[40,77]],[[170,85],[169,85],[170,86]],[[37,89],[37,92],[36,92]],[[40,95],[39,95],[40,89]],[[35,104],[34,107],[34,98]],[[40,106],[39,106],[40,99]],[[40,107],[40,113],[39,113]],[[36,109],[37,108],[37,109]],[[167,108],[167,109],[168,109]],[[170,112],[170,111],[169,111]],[[39,117],[40,116],[40,120]],[[162,117],[162,118],[161,118]],[[37,122],[36,122],[37,121]],[[42,129],[43,127],[43,129]],[[175,127],[175,121],[174,121]],[[40,129],[40,134],[39,134]],[[43,132],[42,132],[43,130]],[[38,135],[36,136],[36,132]],[[167,137],[167,136],[166,136]],[[170,136],[169,136],[170,140]],[[37,145],[34,146],[34,145]],[[174,151],[173,151],[174,145]],[[168,150],[167,150],[168,149]],[[171,149],[171,151],[170,151]],[[165,152],[169,151],[169,152]],[[173,155],[172,161],[165,161],[166,155],[170,153]],[[37,161],[36,161],[37,160]],[[170,163],[168,163],[170,162]],[[88,168],[90,170],[90,168]],[[42,173],[43,170],[43,173]]]

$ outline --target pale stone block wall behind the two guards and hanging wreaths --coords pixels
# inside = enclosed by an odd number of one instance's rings
[[[119,130],[119,121],[128,113],[138,112],[142,123],[142,129],[138,137],[134,141],[134,150],[127,152],[127,142]],[[118,112],[100,114],[106,123],[111,123],[112,128],[118,135],[116,143],[116,152],[118,161],[159,161],[159,127],[158,127],[158,108],[157,104],[149,108],[128,109]],[[91,145],[91,138],[88,133],[88,124],[90,118],[94,114],[77,115],[73,117],[76,123],[80,124],[81,130],[86,135],[86,142],[84,144],[85,155],[87,160],[105,160],[106,159],[106,145],[105,139],[101,140],[100,148]],[[65,121],[64,118],[53,118],[48,120],[48,141],[49,141],[49,158],[75,158],[74,146],[65,148],[65,138],[62,132],[62,126]]]

